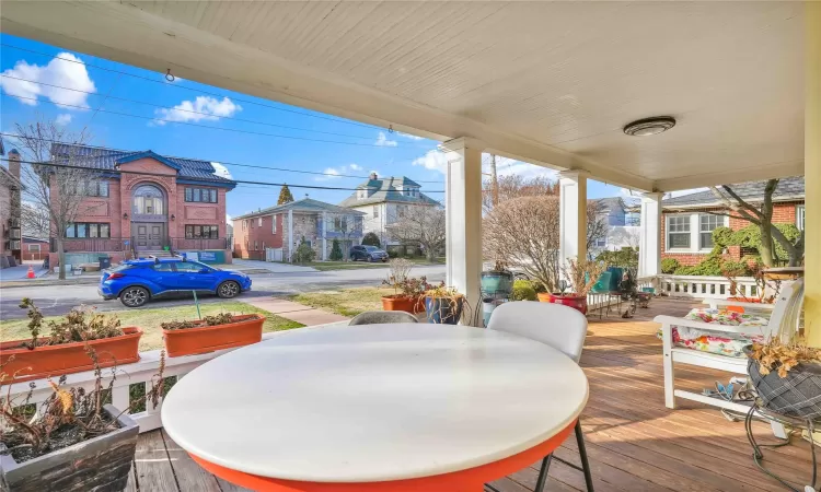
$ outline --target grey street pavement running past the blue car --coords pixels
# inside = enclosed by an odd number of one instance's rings
[[[303,267],[304,268],[304,267]],[[355,270],[316,271],[304,270],[284,271],[281,273],[253,274],[251,292],[242,296],[287,295],[298,292],[325,291],[354,286],[379,286],[388,277],[385,268],[362,268]],[[428,282],[444,280],[444,265],[417,266],[410,272],[414,277],[426,276]],[[100,311],[119,311],[126,307],[119,301],[103,301],[97,294],[97,285],[38,285],[14,289],[0,289],[0,320],[20,319],[26,315],[25,309],[18,307],[20,300],[31,297],[47,316],[68,313],[72,307],[85,304],[97,306]],[[212,303],[221,301],[217,296],[200,296],[200,302]],[[190,297],[177,300],[158,300],[148,303],[143,308],[157,308],[190,304]]]

